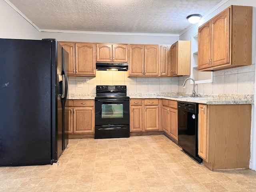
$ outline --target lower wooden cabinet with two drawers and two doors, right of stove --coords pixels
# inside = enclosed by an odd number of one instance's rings
[[[158,99],[130,100],[130,132],[159,131]]]

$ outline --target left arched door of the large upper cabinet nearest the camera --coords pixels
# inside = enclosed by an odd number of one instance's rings
[[[211,30],[210,21],[198,28],[198,70],[210,67]]]

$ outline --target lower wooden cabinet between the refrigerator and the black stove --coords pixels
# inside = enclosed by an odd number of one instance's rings
[[[73,100],[69,109],[69,134],[94,134],[94,100]]]

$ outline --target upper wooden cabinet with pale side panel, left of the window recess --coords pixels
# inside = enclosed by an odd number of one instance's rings
[[[177,41],[170,48],[170,76],[190,75],[191,42]]]

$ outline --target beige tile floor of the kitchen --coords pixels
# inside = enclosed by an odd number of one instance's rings
[[[210,171],[164,135],[70,139],[58,163],[0,167],[0,192],[256,192],[256,171]]]

